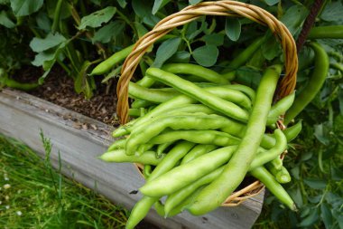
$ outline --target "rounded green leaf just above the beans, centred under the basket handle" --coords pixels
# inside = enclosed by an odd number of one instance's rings
[[[215,45],[205,45],[195,49],[192,56],[201,66],[210,67],[217,62],[218,48]]]

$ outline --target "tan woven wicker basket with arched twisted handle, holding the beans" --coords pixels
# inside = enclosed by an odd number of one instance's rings
[[[279,100],[294,91],[296,72],[298,71],[297,50],[292,34],[283,23],[277,20],[273,14],[255,5],[247,5],[235,1],[202,2],[198,5],[190,5],[178,13],[165,17],[153,27],[152,31],[146,33],[134,44],[133,51],[127,56],[123,64],[121,77],[116,89],[116,112],[122,124],[125,124],[128,120],[128,84],[144,53],[149,50],[154,42],[163,35],[170,33],[175,27],[190,23],[202,15],[246,17],[255,23],[267,26],[282,44],[284,54],[285,75],[278,85],[275,98]],[[282,123],[278,126],[279,128],[284,128]],[[141,172],[140,165],[136,165],[136,167]],[[239,205],[246,199],[259,194],[263,189],[263,184],[255,181],[228,196],[222,205]]]

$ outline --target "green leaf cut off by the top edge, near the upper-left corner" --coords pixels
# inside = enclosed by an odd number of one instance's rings
[[[11,0],[11,8],[15,16],[26,16],[41,9],[43,0]]]

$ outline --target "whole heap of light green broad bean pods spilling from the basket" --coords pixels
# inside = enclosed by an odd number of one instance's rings
[[[264,183],[295,210],[281,184],[291,177],[281,159],[301,122],[277,128],[294,93],[273,101],[282,67],[267,68],[257,90],[191,63],[150,68],[130,82],[135,119],[113,132],[123,137],[100,158],[143,166],[144,195],[127,221],[134,228],[154,207],[162,216],[204,215],[222,205],[246,176]],[[166,196],[166,197],[165,197]]]

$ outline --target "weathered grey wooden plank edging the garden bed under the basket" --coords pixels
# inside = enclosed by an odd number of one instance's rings
[[[58,165],[58,151],[63,173],[107,196],[118,205],[132,208],[141,197],[129,193],[144,184],[132,164],[105,163],[97,159],[113,142],[113,128],[79,113],[40,100],[29,94],[4,90],[0,92],[0,132],[19,138],[42,156],[40,132],[51,139],[51,161]],[[69,119],[70,117],[71,119]],[[76,121],[88,123],[88,129],[76,128]],[[95,125],[97,129],[90,128]],[[255,196],[236,207],[220,207],[195,217],[188,213],[162,219],[153,210],[147,220],[162,228],[250,228],[260,214],[263,196]]]

